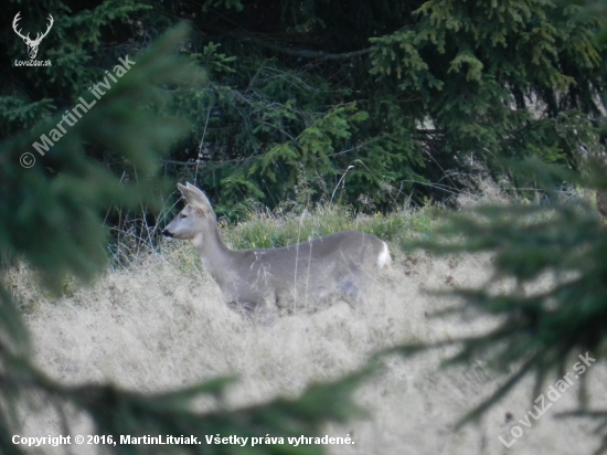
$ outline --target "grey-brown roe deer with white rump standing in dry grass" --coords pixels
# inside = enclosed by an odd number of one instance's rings
[[[361,301],[366,281],[390,267],[387,244],[356,231],[269,250],[230,250],[220,237],[215,213],[204,193],[178,183],[188,204],[162,231],[191,240],[230,308],[252,316],[265,310],[316,310],[333,297]]]

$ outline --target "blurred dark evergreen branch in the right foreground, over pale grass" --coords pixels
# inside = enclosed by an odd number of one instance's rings
[[[583,187],[590,193],[607,190],[607,167],[600,161],[592,162],[585,179],[536,161],[525,165],[534,169],[545,188],[566,180],[578,184],[578,191]],[[546,384],[563,378],[579,360],[579,355],[589,353],[594,359],[605,357],[605,221],[588,200],[566,199],[555,190],[549,191],[549,197],[551,202],[544,205],[483,205],[471,214],[451,214],[443,228],[434,232],[443,241],[412,244],[437,254],[483,252],[493,256],[494,273],[488,282],[478,288],[449,292],[461,298],[461,305],[435,316],[457,313],[475,319],[490,315],[498,318],[497,327],[473,336],[391,350],[411,356],[455,346],[458,351],[446,364],[481,361],[508,375],[460,424],[478,419],[526,375],[535,379],[534,399]],[[541,279],[549,284],[542,285]],[[500,283],[510,283],[510,286],[497,292]],[[575,414],[604,420],[604,412],[584,412],[589,402],[585,388],[588,374],[579,377],[582,411]],[[605,451],[607,434],[598,452]]]

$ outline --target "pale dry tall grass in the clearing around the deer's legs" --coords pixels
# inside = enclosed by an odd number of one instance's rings
[[[401,216],[408,216],[403,222],[424,231],[427,220],[413,218],[427,214]],[[256,231],[264,223],[280,229],[289,222],[260,216],[231,230],[226,237],[234,244],[247,230]],[[317,228],[323,223],[313,218],[310,222]],[[373,222],[360,220],[358,225]],[[138,391],[161,391],[235,375],[238,380],[228,388],[225,400],[230,406],[239,406],[297,395],[313,382],[356,370],[382,348],[455,338],[494,324],[490,319],[470,325],[460,317],[433,318],[434,311],[454,301],[425,292],[478,285],[490,277],[490,257],[435,258],[398,248],[393,253],[393,269],[374,284],[365,308],[353,311],[338,301],[328,310],[284,317],[273,325],[251,324],[228,310],[190,244],[161,243],[153,254],[106,272],[90,287],[67,283],[66,295],[58,299],[36,292],[23,266],[13,269],[9,281],[26,303],[23,310],[36,361],[52,377],[67,383],[109,381]],[[336,436],[350,434],[355,444],[332,446],[330,452],[582,454],[598,446],[588,422],[556,419],[558,412],[575,405],[577,383],[544,416],[531,420],[532,427],[523,427],[523,436],[510,449],[498,436],[512,440],[512,425],[533,410],[535,396],[529,382],[491,409],[478,425],[455,432],[457,420],[494,391],[503,378],[482,363],[438,369],[449,352],[436,350],[411,360],[386,358],[356,393],[368,417],[327,428]],[[599,371],[593,375],[590,390],[605,378],[604,364],[597,362],[593,369]],[[593,396],[593,405],[605,405],[606,396]],[[205,405],[200,403],[201,409]],[[92,431],[83,415],[62,417],[43,402],[36,412],[23,415],[23,422],[24,434],[32,436],[65,434],[66,427],[72,434]],[[45,452],[63,453],[63,448],[46,447]],[[77,453],[95,451],[79,447]]]

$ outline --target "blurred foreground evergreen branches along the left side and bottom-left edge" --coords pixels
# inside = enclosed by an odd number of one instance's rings
[[[169,31],[145,53],[131,55],[132,67],[102,99],[72,126],[44,157],[44,167],[24,169],[21,154],[32,150],[40,135],[56,126],[62,114],[38,123],[30,131],[7,138],[0,146],[0,251],[11,263],[24,260],[42,283],[58,290],[65,275],[88,279],[105,265],[106,231],[102,216],[110,204],[134,207],[159,200],[155,190],[159,156],[180,134],[184,123],[159,114],[169,102],[167,87],[200,84],[204,77],[191,59],[175,54],[185,40],[182,27]],[[19,121],[15,119],[15,121]],[[128,162],[138,179],[125,182],[103,162],[87,157],[93,148],[107,150]],[[1,284],[1,282],[0,282]],[[1,284],[3,285],[3,284]],[[77,410],[88,415],[94,434],[111,436],[114,453],[147,452],[145,444],[120,443],[120,435],[149,434],[239,436],[315,435],[323,422],[342,422],[360,410],[351,394],[369,373],[361,371],[333,383],[310,387],[300,398],[277,399],[246,409],[227,410],[222,391],[228,380],[215,380],[162,394],[120,390],[110,384],[65,385],[49,378],[31,361],[23,317],[10,293],[0,285],[0,452],[25,453],[13,444],[23,412],[43,403],[60,414]],[[212,411],[196,411],[201,398],[214,398]],[[39,402],[40,400],[40,402]],[[106,440],[107,441],[107,440]],[[25,446],[26,447],[26,446]],[[310,454],[315,445],[292,447],[264,443],[249,453]],[[230,445],[182,443],[175,453],[233,453]]]

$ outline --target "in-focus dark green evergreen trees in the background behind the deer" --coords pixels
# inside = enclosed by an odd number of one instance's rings
[[[11,67],[0,80],[2,137],[73,105],[119,55],[188,19],[181,52],[210,80],[158,107],[192,125],[164,170],[194,179],[227,214],[274,208],[301,186],[318,201],[340,181],[358,209],[443,199],[427,183],[456,190],[454,176],[477,161],[526,184],[499,159],[578,169],[581,150],[599,147],[605,50],[593,36],[605,17],[569,3],[45,0],[11,2],[7,14],[21,9],[24,25],[49,12],[61,20],[41,47],[53,66]],[[21,40],[3,33],[7,54],[21,59]]]

